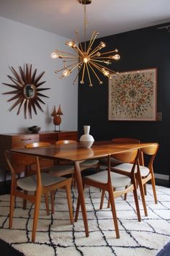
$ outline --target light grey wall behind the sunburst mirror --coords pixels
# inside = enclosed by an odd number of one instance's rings
[[[76,74],[59,79],[55,69],[61,69],[62,61],[50,58],[50,53],[58,48],[68,51],[63,38],[44,30],[23,25],[12,20],[0,17],[0,133],[27,131],[27,127],[38,125],[41,130],[53,130],[53,119],[50,114],[53,107],[61,104],[63,111],[61,129],[77,129],[77,86],[72,85]],[[11,112],[8,108],[14,101],[7,103],[12,95],[2,95],[12,88],[2,85],[2,82],[11,83],[7,75],[12,75],[9,67],[23,67],[24,64],[32,64],[32,70],[37,69],[37,74],[45,71],[41,81],[46,81],[41,88],[50,88],[43,93],[49,98],[42,98],[45,105],[41,104],[44,113],[37,109],[37,115],[33,113],[32,119],[24,119],[23,109],[17,116],[17,108]],[[13,75],[12,75],[13,77]]]

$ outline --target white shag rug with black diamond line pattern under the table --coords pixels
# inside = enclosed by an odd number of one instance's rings
[[[147,185],[146,196],[148,217],[144,216],[140,201],[142,221],[135,214],[133,194],[127,201],[115,200],[120,239],[115,238],[112,213],[99,210],[99,189],[86,188],[86,210],[89,220],[89,237],[85,236],[81,212],[79,221],[72,226],[69,221],[66,192],[58,190],[55,195],[55,214],[47,216],[45,203],[40,206],[35,243],[31,242],[33,206],[27,204],[22,210],[22,200],[17,199],[14,210],[13,228],[8,229],[9,195],[0,196],[0,238],[26,256],[151,256],[156,255],[170,240],[170,189],[156,187],[158,204],[153,200],[151,185]],[[77,191],[72,189],[73,210],[76,209]]]

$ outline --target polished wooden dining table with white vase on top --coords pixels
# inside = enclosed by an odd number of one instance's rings
[[[50,158],[55,160],[68,160],[73,161],[76,185],[79,192],[79,197],[81,198],[81,212],[84,220],[84,229],[86,236],[89,236],[89,226],[86,216],[86,203],[84,200],[84,189],[81,179],[81,169],[80,163],[88,159],[99,159],[104,157],[110,157],[110,155],[115,155],[117,153],[123,153],[128,150],[145,148],[155,144],[153,142],[146,143],[119,143],[115,144],[112,142],[96,142],[91,148],[84,148],[81,142],[76,144],[65,144],[65,145],[50,145],[43,148],[17,148],[11,149],[13,152],[27,154],[27,155],[37,155],[41,158]]]

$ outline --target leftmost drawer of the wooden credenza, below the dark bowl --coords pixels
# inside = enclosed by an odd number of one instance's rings
[[[24,148],[25,145],[38,141],[38,134],[14,136],[12,137],[12,148]]]

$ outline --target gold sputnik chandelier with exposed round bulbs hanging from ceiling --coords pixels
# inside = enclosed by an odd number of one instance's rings
[[[91,34],[91,39],[89,40],[89,44],[87,46],[86,43],[86,25],[87,25],[87,19],[86,19],[86,4],[91,4],[91,0],[79,0],[80,4],[84,4],[84,45],[82,46],[80,40],[79,40],[79,31],[76,30],[76,40],[70,40],[66,42],[66,46],[69,46],[73,48],[74,51],[76,51],[76,54],[70,54],[65,51],[58,51],[58,49],[55,49],[53,53],[51,54],[51,57],[53,59],[62,59],[63,60],[63,68],[55,70],[55,73],[62,72],[61,79],[63,77],[68,77],[74,69],[78,68],[78,73],[76,74],[76,77],[73,81],[73,85],[75,85],[77,78],[79,77],[79,73],[81,72],[81,80],[80,83],[84,84],[84,74],[86,74],[89,77],[89,86],[92,86],[91,83],[91,72],[94,74],[94,77],[97,78],[99,81],[99,84],[102,84],[102,81],[100,80],[97,70],[99,72],[102,72],[104,76],[109,77],[109,79],[112,79],[111,74],[117,73],[114,72],[112,69],[109,69],[107,66],[109,64],[112,64],[112,61],[119,60],[120,55],[117,54],[117,49],[107,52],[100,52],[102,48],[106,47],[106,44],[104,42],[100,42],[99,45],[95,48],[92,48],[94,44],[94,40],[97,38],[97,35],[99,35],[99,32],[93,31]]]

